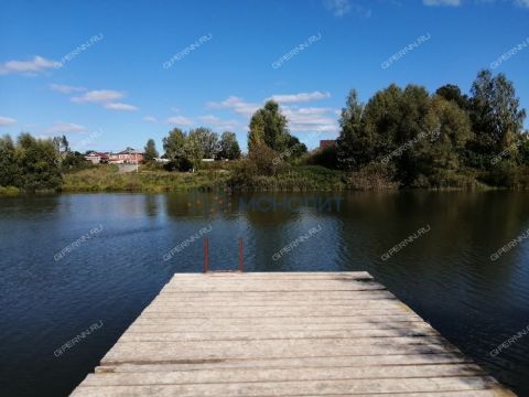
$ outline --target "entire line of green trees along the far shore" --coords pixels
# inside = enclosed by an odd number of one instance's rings
[[[353,187],[464,187],[479,182],[528,187],[525,118],[512,83],[489,71],[477,74],[469,95],[452,84],[433,94],[419,85],[391,84],[363,104],[352,89],[336,144],[307,152],[290,133],[279,104],[269,100],[250,119],[248,155],[231,170],[241,183],[274,176],[291,163],[342,170]],[[170,171],[199,169],[203,159],[241,158],[234,132],[218,136],[204,127],[172,129],[163,150]],[[147,161],[159,158],[152,139],[144,154]],[[0,138],[0,186],[58,189],[62,172],[83,163],[83,154],[72,152],[64,136],[35,139],[24,132],[15,142],[9,136]]]

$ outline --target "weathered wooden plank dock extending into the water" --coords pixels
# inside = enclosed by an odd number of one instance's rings
[[[175,275],[80,396],[515,396],[367,272]]]

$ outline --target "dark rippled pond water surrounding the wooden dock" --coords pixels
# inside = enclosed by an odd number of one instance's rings
[[[300,200],[300,211],[284,211]],[[529,239],[489,258],[529,228],[528,202],[528,193],[512,192],[0,197],[0,395],[67,395],[174,272],[202,270],[202,242],[163,257],[204,228],[216,269],[236,267],[242,237],[248,271],[369,271],[529,396],[529,335],[489,354],[529,325]],[[272,259],[311,228],[319,232]]]

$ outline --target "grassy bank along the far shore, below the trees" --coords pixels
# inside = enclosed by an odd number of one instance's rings
[[[139,172],[120,173],[117,165],[98,165],[63,174],[62,192],[184,192],[190,190],[244,192],[338,192],[398,190],[398,183],[378,169],[358,172],[331,170],[320,165],[288,165],[274,175],[257,175],[237,163],[206,167],[197,172],[170,172],[161,168],[140,167]],[[442,175],[428,190],[488,190],[495,184],[483,181],[475,172]],[[501,189],[501,187],[499,187]],[[506,186],[503,186],[506,189]],[[523,189],[510,186],[507,189]],[[0,186],[0,195],[17,195],[17,187]]]

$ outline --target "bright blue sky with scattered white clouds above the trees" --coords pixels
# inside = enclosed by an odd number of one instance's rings
[[[468,92],[522,43],[494,72],[529,109],[528,22],[529,0],[2,0],[0,133],[161,149],[172,128],[206,126],[246,150],[252,111],[274,97],[314,148],[337,136],[350,88],[364,101],[391,83]]]

